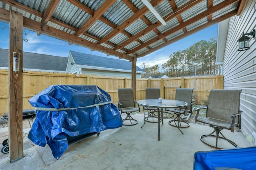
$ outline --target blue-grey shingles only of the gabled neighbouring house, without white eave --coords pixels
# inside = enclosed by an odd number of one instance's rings
[[[112,69],[120,69],[120,70],[132,70],[132,63],[130,61],[78,53],[76,51],[70,51],[70,53],[77,65],[96,66],[96,67],[112,68]],[[136,67],[136,71],[144,72],[138,66]]]

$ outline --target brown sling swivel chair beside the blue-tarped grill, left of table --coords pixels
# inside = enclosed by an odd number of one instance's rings
[[[135,107],[136,101],[133,99],[132,88],[118,88],[118,109],[121,114],[126,113],[125,119],[122,119],[123,125],[136,125],[138,121],[132,118],[131,114],[134,111],[140,111],[140,107]],[[129,122],[129,123],[127,123]]]

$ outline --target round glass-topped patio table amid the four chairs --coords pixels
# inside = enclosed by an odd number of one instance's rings
[[[167,109],[167,108],[181,108],[181,107],[188,106],[188,103],[186,102],[179,101],[179,100],[167,100],[167,99],[162,99],[162,102],[159,102],[158,99],[144,99],[144,100],[138,100],[137,104],[144,107],[157,108],[158,141],[160,141],[160,119],[167,118],[167,117],[160,116],[160,109],[162,111],[162,109]]]

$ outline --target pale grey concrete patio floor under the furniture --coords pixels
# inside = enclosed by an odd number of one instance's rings
[[[201,135],[213,131],[209,126],[190,123],[190,127],[181,129],[182,135],[178,128],[168,124],[168,119],[164,119],[158,141],[158,123],[148,122],[141,128],[143,114],[132,116],[138,120],[137,125],[108,129],[99,136],[93,135],[69,145],[59,160],[52,156],[48,145],[39,147],[24,139],[24,145],[30,143],[24,147],[24,158],[10,163],[8,156],[2,156],[0,170],[192,170],[196,151],[215,150],[200,141]],[[222,130],[222,133],[239,147],[251,146],[240,132]]]

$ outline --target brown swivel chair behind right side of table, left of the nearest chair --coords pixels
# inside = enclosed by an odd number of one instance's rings
[[[192,108],[192,96],[193,96],[194,88],[177,88],[175,93],[175,100],[180,100],[183,102],[187,102],[188,106],[183,108],[170,108],[166,109],[167,111],[174,112],[173,119],[169,121],[169,125],[176,126],[180,130],[180,127],[189,127],[189,123],[182,119],[182,115],[186,115],[187,112],[192,112],[187,108]],[[191,107],[190,107],[191,106]],[[180,130],[183,134],[183,132]]]

